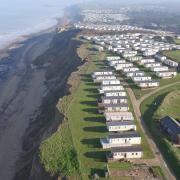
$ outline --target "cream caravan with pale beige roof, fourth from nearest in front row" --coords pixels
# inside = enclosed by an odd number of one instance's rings
[[[134,120],[131,112],[105,112],[106,121],[132,121]]]

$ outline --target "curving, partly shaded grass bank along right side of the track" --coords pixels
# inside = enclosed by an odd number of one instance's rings
[[[176,174],[177,178],[180,179],[180,159],[177,156],[176,150],[172,146],[172,144],[163,136],[161,131],[159,131],[159,127],[155,122],[155,113],[158,107],[163,102],[164,97],[173,90],[179,90],[180,85],[176,85],[173,87],[169,87],[164,89],[155,95],[147,98],[141,104],[141,112],[143,115],[143,119],[149,128],[150,133],[152,134],[155,142],[159,146],[161,152],[163,153],[164,157],[166,158],[168,164],[173,169],[174,173]]]

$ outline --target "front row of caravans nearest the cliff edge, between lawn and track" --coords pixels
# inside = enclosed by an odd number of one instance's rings
[[[104,114],[109,131],[109,135],[101,138],[100,142],[103,149],[111,150],[107,155],[108,160],[141,158],[141,137],[136,132],[136,124],[129,111],[128,98],[122,83],[113,70],[109,69],[94,72],[92,78],[95,83],[100,84],[99,113]]]

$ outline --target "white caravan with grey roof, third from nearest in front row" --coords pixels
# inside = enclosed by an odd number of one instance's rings
[[[106,122],[106,126],[109,132],[136,131],[134,121],[109,121]]]

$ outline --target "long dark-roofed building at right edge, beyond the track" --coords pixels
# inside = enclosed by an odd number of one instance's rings
[[[171,140],[180,144],[180,123],[170,116],[166,116],[160,120],[162,128],[169,134]]]

